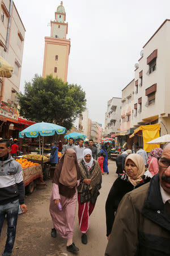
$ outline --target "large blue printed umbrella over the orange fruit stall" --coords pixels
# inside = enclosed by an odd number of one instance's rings
[[[54,134],[64,134],[67,130],[65,127],[55,125],[54,123],[35,123],[34,125],[31,125],[24,129],[23,131],[20,131],[19,137],[29,137],[29,138],[36,138],[38,136],[42,136],[42,155],[44,151],[44,136],[53,136]],[[40,142],[40,137],[39,137]],[[40,150],[41,154],[41,150]]]

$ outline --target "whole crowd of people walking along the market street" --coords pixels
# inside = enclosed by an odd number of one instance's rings
[[[98,147],[97,147],[98,146]],[[90,216],[100,194],[102,175],[108,172],[105,145],[74,139],[52,143],[50,164],[56,169],[50,198],[51,236],[57,232],[67,240],[66,250],[79,251],[73,242],[76,204],[81,240],[88,242]],[[62,152],[58,160],[58,151]],[[0,233],[7,215],[7,240],[2,255],[11,255],[18,208],[24,204],[22,168],[10,155],[10,142],[0,140]],[[150,154],[142,147],[134,154],[126,150],[117,156],[117,179],[105,203],[108,245],[105,255],[170,255],[170,143]],[[147,171],[146,171],[147,170]],[[150,175],[148,175],[150,174]]]

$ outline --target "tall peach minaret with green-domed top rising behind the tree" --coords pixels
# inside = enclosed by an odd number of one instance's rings
[[[52,74],[64,82],[67,81],[67,70],[70,53],[70,39],[66,39],[68,23],[63,3],[57,7],[55,20],[51,21],[50,37],[45,37],[44,64],[42,77]]]

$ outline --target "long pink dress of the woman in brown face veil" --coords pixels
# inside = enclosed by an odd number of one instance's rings
[[[80,180],[78,180],[78,185]],[[50,214],[53,221],[53,227],[58,231],[61,237],[66,239],[72,239],[74,234],[74,221],[75,221],[75,210],[78,201],[77,187],[75,187],[75,194],[72,198],[59,195],[58,185],[53,183],[52,196],[50,199]],[[54,200],[60,199],[62,210],[58,210]]]

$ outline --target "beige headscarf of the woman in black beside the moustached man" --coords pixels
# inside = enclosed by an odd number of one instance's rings
[[[126,163],[128,161],[128,159],[130,159],[131,161],[134,162],[135,166],[137,166],[138,168],[138,173],[137,175],[135,175],[134,177],[129,177],[128,176],[128,180],[130,181],[131,184],[134,185],[134,187],[136,185],[138,185],[139,183],[141,183],[141,181],[143,180],[142,177],[145,174],[145,164],[143,161],[143,158],[141,155],[138,154],[130,154],[126,157],[125,160],[125,169],[126,169]]]

